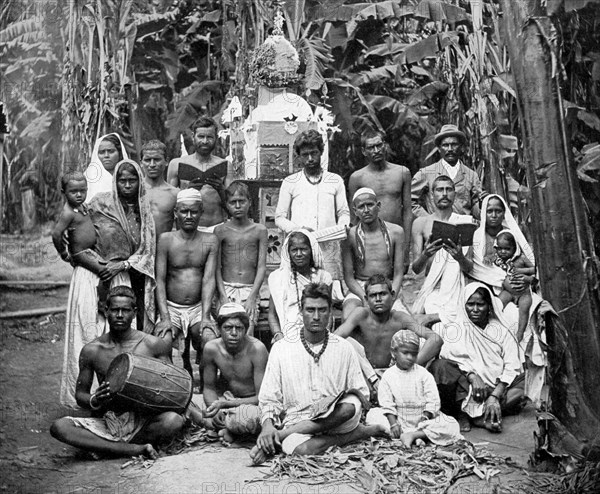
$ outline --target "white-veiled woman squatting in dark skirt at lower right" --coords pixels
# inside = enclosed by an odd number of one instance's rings
[[[429,366],[438,385],[441,410],[456,417],[461,431],[470,422],[502,430],[502,415],[520,411],[523,375],[517,340],[501,316],[502,302],[483,283],[470,283],[460,295],[456,319],[440,313],[434,325],[444,344]]]

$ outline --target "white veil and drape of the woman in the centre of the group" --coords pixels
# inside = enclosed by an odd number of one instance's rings
[[[290,237],[293,233],[303,233],[310,241],[314,268],[310,276],[306,277],[292,269],[292,261],[288,252]],[[325,283],[331,286],[333,279],[323,269],[323,254],[315,236],[308,230],[295,230],[283,242],[281,248],[281,264],[278,269],[269,275],[269,294],[279,318],[279,324],[286,338],[295,338],[297,330],[302,325],[300,317],[300,297],[302,290],[309,283]]]

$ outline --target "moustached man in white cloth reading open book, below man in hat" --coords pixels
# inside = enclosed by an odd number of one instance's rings
[[[425,270],[427,276],[413,305],[413,313],[456,314],[458,296],[465,286],[465,274],[473,268],[473,248],[456,245],[450,239],[430,241],[433,222],[472,223],[473,218],[452,211],[454,182],[441,175],[431,186],[434,211],[413,223],[413,271]],[[432,319],[434,322],[435,319]]]

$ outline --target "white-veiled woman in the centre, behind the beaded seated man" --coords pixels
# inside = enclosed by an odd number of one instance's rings
[[[333,283],[323,269],[323,254],[315,236],[307,230],[290,233],[281,249],[281,264],[269,275],[269,327],[273,343],[300,337],[300,297],[309,283]]]

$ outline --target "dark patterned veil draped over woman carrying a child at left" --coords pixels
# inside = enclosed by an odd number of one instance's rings
[[[133,166],[139,177],[138,204],[140,231],[135,231],[125,213],[117,192],[117,175],[124,164]],[[115,167],[110,192],[97,194],[90,202],[92,222],[98,232],[98,251],[107,261],[124,261],[132,269],[145,275],[144,285],[144,331],[151,332],[154,323],[154,259],[156,232],[150,203],[146,196],[144,175],[140,166],[131,160],[123,160]]]

